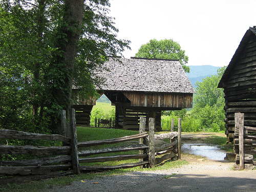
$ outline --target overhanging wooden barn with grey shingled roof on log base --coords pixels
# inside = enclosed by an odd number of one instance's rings
[[[138,129],[140,117],[153,117],[161,130],[161,111],[192,108],[195,90],[178,60],[110,58],[96,74],[104,79],[96,89],[116,106],[119,129]],[[77,108],[89,112],[92,104]]]

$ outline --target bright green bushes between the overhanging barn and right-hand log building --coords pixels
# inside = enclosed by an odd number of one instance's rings
[[[217,75],[211,75],[196,83],[197,93],[192,110],[165,112],[168,116],[162,118],[163,129],[170,129],[170,118],[182,118],[184,132],[224,131],[224,93],[222,89],[217,88],[224,71],[225,67],[220,68]]]

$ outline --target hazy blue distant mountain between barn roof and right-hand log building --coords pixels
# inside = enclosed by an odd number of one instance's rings
[[[217,74],[220,67],[215,66],[189,66],[190,73],[186,73],[191,84],[196,88],[195,83],[201,82],[203,78]]]

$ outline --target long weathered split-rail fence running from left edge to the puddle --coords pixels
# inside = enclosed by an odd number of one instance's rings
[[[25,140],[50,140],[62,142],[62,146],[15,146],[0,145],[0,155],[23,154],[33,156],[29,160],[3,160],[0,164],[0,183],[26,182],[30,180],[46,179],[70,174],[80,174],[89,170],[106,170],[116,168],[130,168],[135,166],[154,167],[166,160],[177,160],[180,158],[180,145],[177,146],[180,136],[177,132],[155,135],[154,118],[150,118],[149,133],[145,132],[145,118],[140,118],[139,134],[121,138],[78,142],[75,126],[75,111],[71,109],[70,138],[62,135],[47,135],[36,133],[25,133],[14,130],[0,129],[0,139],[25,139]],[[66,124],[66,123],[62,123]],[[66,126],[61,134],[67,135]],[[181,130],[180,120],[179,129]],[[180,132],[179,132],[180,133]],[[155,139],[170,137],[170,142],[162,146],[155,146]],[[132,140],[139,140],[133,141]],[[127,143],[130,142],[130,143]],[[118,146],[109,144],[120,143]],[[61,145],[61,144],[59,144]],[[103,148],[99,148],[103,145]],[[86,148],[90,147],[90,148]],[[79,151],[78,151],[79,149]],[[104,156],[107,153],[123,153],[138,151],[133,154],[119,154]],[[34,158],[34,157],[37,158]],[[136,163],[124,163],[118,165],[102,165],[106,161],[119,161],[126,159],[138,159]],[[94,164],[91,164],[94,162]],[[96,163],[95,163],[96,162]],[[99,162],[98,165],[97,162]],[[89,165],[86,165],[86,163]]]

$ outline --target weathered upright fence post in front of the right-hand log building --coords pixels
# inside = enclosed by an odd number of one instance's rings
[[[235,113],[234,122],[239,134],[239,170],[244,170],[244,113]]]

